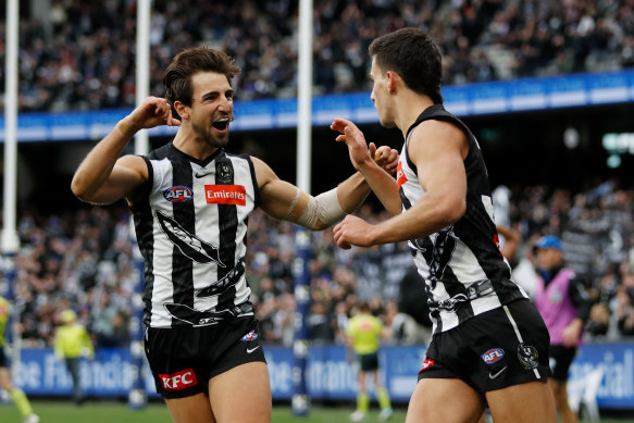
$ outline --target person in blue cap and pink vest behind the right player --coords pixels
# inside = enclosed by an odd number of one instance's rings
[[[546,235],[533,247],[536,252],[538,281],[535,306],[550,334],[549,356],[552,375],[549,380],[557,412],[563,423],[576,423],[577,416],[568,403],[568,371],[581,345],[584,323],[591,303],[584,279],[564,266],[561,240]]]

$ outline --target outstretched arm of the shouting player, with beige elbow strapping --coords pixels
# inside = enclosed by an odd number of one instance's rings
[[[396,150],[387,147],[382,147],[375,153],[386,167],[394,166],[398,160]],[[370,192],[363,176],[356,173],[335,189],[313,197],[279,179],[262,160],[251,159],[262,198],[261,209],[275,219],[287,220],[313,231],[324,229],[357,210]]]

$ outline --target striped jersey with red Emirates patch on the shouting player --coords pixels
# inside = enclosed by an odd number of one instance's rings
[[[144,321],[173,327],[223,320],[251,293],[247,222],[260,202],[253,163],[223,149],[200,161],[171,142],[144,159],[147,197],[133,207],[145,259]]]

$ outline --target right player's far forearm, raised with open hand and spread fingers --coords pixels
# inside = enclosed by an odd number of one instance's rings
[[[370,142],[368,146],[363,133],[352,122],[337,117],[331,128],[341,134],[336,140],[348,146],[352,165],[363,175],[383,207],[393,215],[400,214],[400,196],[396,181],[390,175],[398,163],[394,163],[393,167],[382,166],[376,157],[373,157],[374,144]]]

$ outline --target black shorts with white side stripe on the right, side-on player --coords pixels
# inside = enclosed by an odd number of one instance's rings
[[[513,301],[434,335],[421,378],[459,378],[478,393],[550,376],[548,329],[529,300]]]

